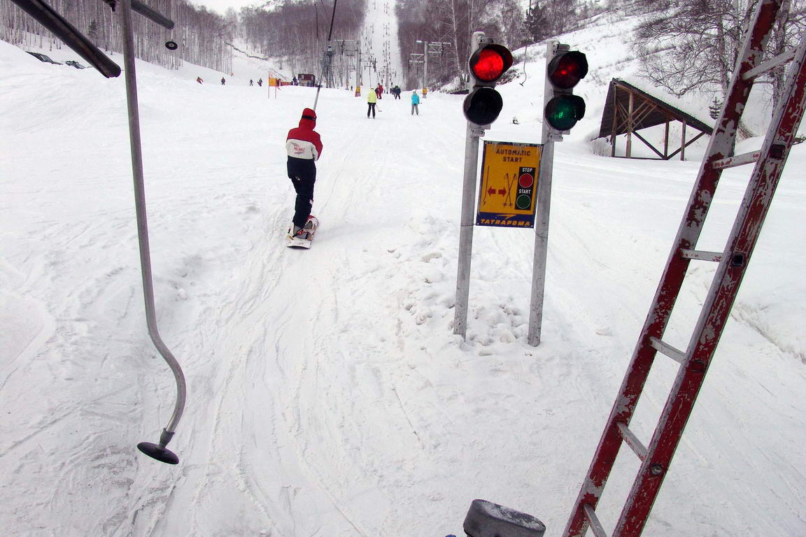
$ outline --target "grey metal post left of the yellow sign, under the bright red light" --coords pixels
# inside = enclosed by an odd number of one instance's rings
[[[473,33],[471,53],[484,39],[483,31]],[[473,253],[473,225],[476,209],[476,175],[479,168],[479,138],[484,129],[467,122],[464,143],[464,178],[462,186],[462,217],[459,227],[459,259],[456,272],[456,304],[454,307],[454,333],[465,337],[467,333],[467,297],[470,294],[470,264]]]

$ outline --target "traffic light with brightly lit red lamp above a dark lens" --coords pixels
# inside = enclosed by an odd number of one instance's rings
[[[494,88],[501,76],[512,67],[512,53],[503,45],[482,43],[468,61],[475,79],[473,89],[464,99],[464,117],[478,126],[489,125],[501,114],[504,100]]]

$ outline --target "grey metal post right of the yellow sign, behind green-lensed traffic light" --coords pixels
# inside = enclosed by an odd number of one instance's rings
[[[546,67],[554,57],[557,41],[546,42]],[[546,76],[543,88],[543,101],[553,93]],[[543,299],[546,290],[546,258],[549,250],[549,216],[551,211],[551,176],[554,170],[554,140],[549,136],[549,126],[543,119],[540,142],[543,149],[540,153],[540,174],[538,175],[538,206],[534,214],[534,262],[532,263],[532,297],[529,312],[529,333],[526,341],[536,347],[540,345],[540,331],[543,322]]]

